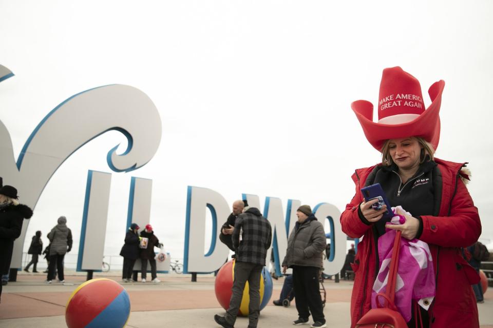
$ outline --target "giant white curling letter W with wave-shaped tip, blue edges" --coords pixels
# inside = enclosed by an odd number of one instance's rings
[[[14,74],[0,65],[0,81]],[[138,115],[137,115],[138,114]],[[51,176],[75,151],[97,136],[121,132],[128,140],[123,154],[116,147],[107,154],[108,166],[128,172],[145,165],[161,140],[161,118],[153,101],[142,91],[108,85],[75,94],[50,111],[27,139],[15,161],[12,141],[0,121],[0,176],[17,188],[22,202],[33,210]],[[34,212],[35,213],[35,212]],[[29,220],[16,239],[11,268],[21,267],[22,245]]]

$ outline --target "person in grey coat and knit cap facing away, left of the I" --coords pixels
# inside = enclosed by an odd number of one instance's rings
[[[65,282],[63,276],[63,258],[67,252],[72,249],[72,232],[67,228],[67,218],[61,216],[58,218],[58,224],[48,233],[48,239],[51,242],[50,247],[50,264],[48,265],[48,276],[46,282],[51,283],[54,278],[55,264],[58,270],[58,279]]]

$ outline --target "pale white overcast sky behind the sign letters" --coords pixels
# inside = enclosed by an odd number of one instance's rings
[[[187,186],[213,189],[230,205],[248,193],[262,204],[279,197],[285,209],[299,199],[342,211],[354,169],[380,160],[350,104],[376,104],[382,70],[393,66],[420,80],[426,106],[429,86],[445,80],[436,155],[470,162],[481,238],[493,240],[489,0],[0,0],[0,13],[0,64],[15,74],[0,83],[0,119],[15,157],[49,111],[102,85],[145,92],[163,127],[155,157],[129,173],[106,163],[111,148],[126,149],[119,132],[75,152],[36,205],[26,251],[60,215],[78,247],[88,170],[112,173],[106,255],[123,244],[131,176],[153,180],[151,223],[176,258]]]

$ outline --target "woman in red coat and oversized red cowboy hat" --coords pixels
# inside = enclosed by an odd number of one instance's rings
[[[434,157],[440,138],[440,104],[443,80],[429,89],[432,104],[425,110],[419,81],[400,67],[385,69],[380,86],[378,122],[373,105],[365,100],[351,107],[370,144],[382,152],[382,163],[355,170],[356,194],[340,217],[343,231],[358,244],[351,296],[351,326],[371,309],[371,294],[378,273],[378,238],[385,229],[398,229],[409,240],[428,243],[435,273],[435,297],[427,304],[413,303],[408,326],[479,327],[478,309],[471,284],[479,281],[461,249],[481,234],[478,209],[464,181],[466,163]],[[386,211],[372,209],[377,200],[365,201],[361,188],[380,183],[392,207],[402,206],[411,216],[390,225]],[[415,301],[413,301],[415,302]],[[421,320],[420,320],[421,318]]]

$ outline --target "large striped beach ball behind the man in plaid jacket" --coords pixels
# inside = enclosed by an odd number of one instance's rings
[[[232,295],[233,280],[235,274],[235,260],[224,263],[219,269],[216,276],[216,282],[214,284],[214,290],[216,292],[216,298],[221,304],[224,310],[230,307],[230,299]],[[245,289],[243,290],[243,297],[241,298],[240,310],[238,315],[248,316],[248,303],[250,301],[248,289],[248,281],[245,283]],[[272,296],[272,277],[266,267],[262,269],[260,276],[260,310],[266,307]]]

